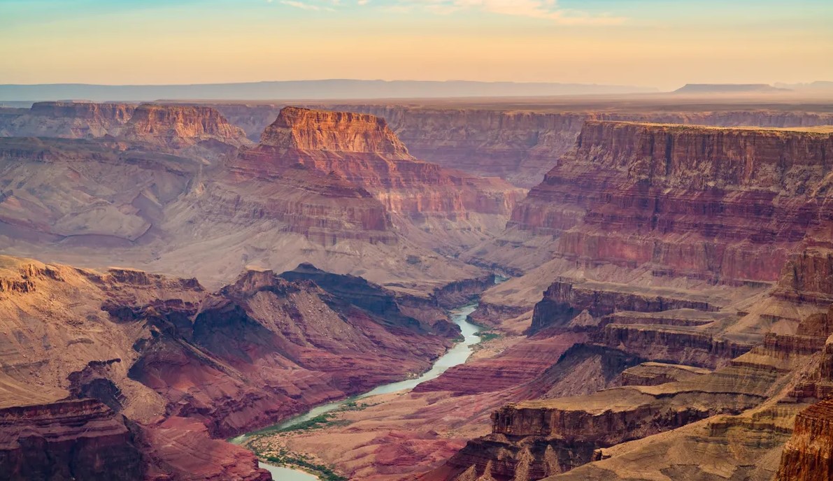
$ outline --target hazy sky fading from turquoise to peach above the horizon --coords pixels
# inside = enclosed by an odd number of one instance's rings
[[[833,80],[833,0],[0,0],[0,83]]]

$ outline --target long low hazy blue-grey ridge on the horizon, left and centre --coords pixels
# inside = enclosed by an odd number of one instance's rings
[[[303,80],[192,85],[0,85],[0,102],[83,98],[93,102],[167,100],[297,100],[427,97],[543,97],[658,92],[651,87],[578,83]]]

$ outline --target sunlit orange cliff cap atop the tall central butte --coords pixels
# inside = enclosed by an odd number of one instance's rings
[[[376,153],[413,160],[383,118],[285,107],[261,136],[262,146],[302,151]]]

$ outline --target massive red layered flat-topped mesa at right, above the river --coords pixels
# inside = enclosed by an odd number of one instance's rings
[[[511,216],[556,256],[773,281],[826,221],[833,134],[587,121]]]

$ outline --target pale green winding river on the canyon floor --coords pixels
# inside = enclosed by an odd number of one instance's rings
[[[420,384],[427,380],[434,379],[440,374],[444,373],[446,369],[451,368],[452,366],[456,366],[457,364],[465,363],[471,355],[471,352],[473,350],[472,347],[476,345],[478,342],[480,342],[480,337],[477,335],[477,332],[480,330],[480,327],[471,324],[467,320],[468,315],[470,315],[476,309],[477,304],[474,303],[462,305],[456,309],[452,309],[449,311],[449,314],[451,315],[451,320],[454,321],[456,325],[460,326],[460,330],[464,339],[462,340],[462,342],[459,342],[456,345],[454,345],[454,347],[448,350],[446,354],[441,355],[441,357],[439,357],[436,360],[436,362],[431,366],[431,369],[426,371],[418,378],[406,379],[404,381],[399,381],[391,384],[384,384],[382,386],[377,387],[376,389],[373,389],[372,391],[368,391],[365,394],[360,394],[358,396],[354,396],[349,399],[343,399],[341,401],[336,401],[334,403],[322,404],[320,406],[317,406],[316,408],[312,408],[309,412],[305,414],[293,416],[292,418],[283,421],[281,424],[276,424],[275,426],[273,426],[273,428],[292,428],[292,426],[301,424],[304,421],[315,418],[316,416],[320,416],[322,414],[329,413],[330,411],[339,409],[345,404],[356,401],[357,399],[364,399],[370,396],[375,396],[377,394],[388,394],[406,389],[413,389],[416,386],[416,384]],[[237,438],[232,439],[232,443],[241,444],[243,441],[247,439],[249,435],[250,434],[243,434],[242,436],[237,436]],[[284,468],[282,466],[272,466],[271,464],[266,464],[262,461],[260,462],[260,465],[263,469],[267,469],[270,473],[272,473],[272,478],[276,479],[276,481],[316,481],[318,479],[317,476],[313,474],[309,474],[297,469]]]

